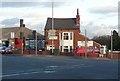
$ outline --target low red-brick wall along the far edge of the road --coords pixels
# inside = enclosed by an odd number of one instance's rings
[[[22,54],[22,50],[14,50],[13,54]],[[27,55],[35,55],[36,51],[35,50],[24,50],[23,54]],[[51,55],[51,51],[44,50],[44,51],[37,51],[38,55]],[[85,57],[85,54],[78,54],[78,53],[73,53],[73,52],[60,52],[59,55],[65,55],[65,56],[82,56]],[[87,57],[100,57],[100,58],[113,58],[113,59],[118,59],[120,58],[120,54],[89,54],[87,53]]]

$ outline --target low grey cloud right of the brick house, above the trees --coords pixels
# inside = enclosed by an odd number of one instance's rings
[[[96,25],[93,22],[81,25],[81,33],[85,35],[85,29],[87,30],[87,37],[93,38],[94,36],[109,35],[110,30],[118,29],[118,25]]]

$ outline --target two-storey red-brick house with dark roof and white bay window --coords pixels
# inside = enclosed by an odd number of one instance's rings
[[[76,18],[48,18],[45,25],[46,49],[60,49],[61,52],[71,52],[75,49],[79,41],[91,41],[89,38],[80,34],[80,15],[77,9]],[[53,39],[53,44],[52,44]],[[53,45],[53,46],[52,46]],[[100,44],[93,41],[93,46],[100,48]]]

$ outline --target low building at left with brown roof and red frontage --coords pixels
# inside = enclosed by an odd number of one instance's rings
[[[35,38],[33,36],[33,31],[28,27],[25,26],[23,23],[23,19],[20,19],[20,26],[18,27],[5,27],[0,28],[1,30],[1,36],[0,36],[0,45],[5,46],[12,46],[12,48],[22,48],[22,40],[24,44],[26,44],[27,47],[35,47],[35,44],[33,43]],[[35,31],[36,32],[36,31]],[[41,42],[44,41],[44,36],[38,32],[37,33],[37,42],[38,47],[40,48]],[[16,42],[17,41],[17,42]]]

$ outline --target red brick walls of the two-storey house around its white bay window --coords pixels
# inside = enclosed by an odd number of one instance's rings
[[[46,36],[46,42],[48,42],[47,45],[52,45],[52,40],[49,40],[48,38],[48,32],[49,30],[45,30],[45,36]],[[85,41],[85,36],[80,34],[79,33],[79,30],[56,30],[56,36],[58,37],[57,40],[54,40],[54,45],[55,45],[55,48],[59,49],[59,45],[60,45],[60,42],[59,42],[59,33],[60,32],[73,32],[74,33],[74,42],[73,42],[73,46],[74,48],[76,48],[77,46],[77,41]],[[90,40],[89,38],[86,38],[87,40]],[[97,47],[100,47],[100,44],[94,42],[94,46],[97,46]]]

